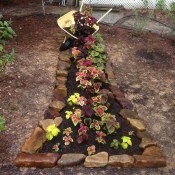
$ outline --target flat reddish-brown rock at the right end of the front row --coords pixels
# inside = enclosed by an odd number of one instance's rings
[[[146,156],[146,155],[134,155],[135,168],[157,168],[165,167],[166,159],[163,156]]]

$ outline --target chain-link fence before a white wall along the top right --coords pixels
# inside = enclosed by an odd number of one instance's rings
[[[91,5],[122,5],[126,9],[135,8],[163,8],[170,9],[175,7],[175,0],[84,0],[86,4]]]

